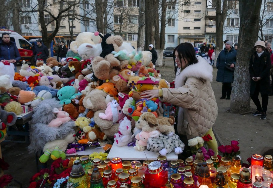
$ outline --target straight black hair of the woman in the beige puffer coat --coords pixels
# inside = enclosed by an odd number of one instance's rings
[[[175,49],[173,50],[173,62],[175,65],[175,74],[178,69],[176,66],[176,63],[175,63],[175,51],[177,51],[177,53],[178,53],[180,63],[181,63],[181,58],[183,58],[184,61],[185,61],[185,59],[188,60],[188,62],[189,62],[188,66],[198,63],[198,59],[196,58],[196,52],[195,52],[192,44],[187,43],[187,42],[181,43],[178,46],[176,46]]]

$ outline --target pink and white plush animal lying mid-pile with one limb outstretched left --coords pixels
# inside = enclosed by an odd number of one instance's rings
[[[115,123],[121,120],[125,115],[123,114],[117,100],[113,100],[112,102],[108,102],[105,114],[99,113],[98,116],[101,119],[111,120],[113,123]]]

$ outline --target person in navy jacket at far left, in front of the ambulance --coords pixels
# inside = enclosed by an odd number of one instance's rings
[[[19,50],[13,41],[10,41],[10,35],[6,32],[2,33],[0,41],[0,61],[7,60],[14,64],[14,71],[17,72],[17,62],[21,59]]]

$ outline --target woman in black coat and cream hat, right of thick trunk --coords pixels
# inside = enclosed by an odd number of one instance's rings
[[[270,86],[270,55],[265,52],[266,45],[264,41],[257,41],[254,48],[256,52],[251,56],[249,62],[250,97],[256,105],[257,111],[252,115],[260,115],[260,119],[266,119],[268,95],[272,92]],[[259,92],[262,97],[262,106],[258,98]]]

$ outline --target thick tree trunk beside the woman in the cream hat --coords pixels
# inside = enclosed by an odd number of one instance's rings
[[[230,103],[231,113],[242,113],[250,110],[249,61],[253,52],[251,46],[258,39],[261,4],[262,0],[239,1],[239,46],[234,73],[233,94]]]

